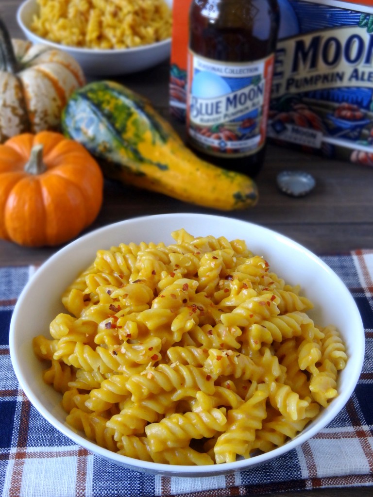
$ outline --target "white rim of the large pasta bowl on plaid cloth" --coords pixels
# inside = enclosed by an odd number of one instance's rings
[[[36,397],[36,395],[33,393],[32,389],[30,388],[27,379],[24,378],[24,376],[21,374],[20,367],[19,367],[19,359],[17,356],[17,348],[16,348],[16,343],[15,343],[15,325],[18,317],[18,313],[20,309],[22,308],[22,303],[23,300],[25,299],[26,295],[28,294],[29,290],[33,286],[33,278],[29,280],[29,282],[26,284],[24,287],[23,291],[21,292],[17,303],[14,308],[14,312],[12,315],[12,319],[10,322],[10,329],[9,329],[9,350],[10,350],[10,357],[12,360],[13,368],[15,371],[15,374],[18,378],[19,384],[28,397],[28,399],[31,401],[33,406],[37,409],[37,411],[45,418],[47,419],[55,428],[57,428],[59,431],[61,431],[63,434],[65,434],[68,438],[71,440],[75,441],[78,445],[85,447],[89,451],[93,452],[94,454],[97,454],[100,457],[103,457],[104,459],[110,460],[111,462],[115,462],[119,466],[122,467],[127,467],[131,470],[134,471],[140,471],[140,472],[145,472],[145,473],[151,473],[151,474],[160,474],[163,476],[178,476],[178,477],[201,477],[201,476],[217,476],[221,474],[229,474],[234,471],[239,471],[239,470],[245,470],[249,469],[255,465],[261,464],[263,462],[266,462],[270,459],[274,459],[276,457],[279,457],[280,455],[288,452],[291,449],[294,449],[304,441],[308,440],[310,437],[318,433],[322,428],[324,428],[332,419],[336,417],[338,413],[343,409],[343,407],[346,405],[347,401],[350,399],[351,395],[353,394],[353,391],[355,390],[356,384],[359,380],[359,376],[361,373],[361,370],[363,368],[363,361],[364,361],[364,351],[365,351],[365,333],[364,333],[364,326],[363,322],[361,319],[360,312],[357,308],[357,305],[346,287],[346,285],[342,282],[342,280],[339,278],[339,276],[327,265],[325,264],[319,257],[317,257],[313,252],[308,250],[307,248],[304,248],[300,244],[292,241],[291,239],[277,233],[276,231],[270,230],[268,228],[262,227],[257,224],[253,224],[250,222],[246,222],[243,220],[235,219],[235,218],[225,218],[224,216],[216,216],[216,215],[209,215],[209,214],[191,214],[191,213],[183,213],[183,214],[158,214],[158,215],[153,215],[153,216],[141,216],[141,217],[135,217],[131,219],[127,219],[125,221],[120,221],[118,223],[110,224],[107,226],[104,226],[102,228],[96,229],[87,235],[84,235],[83,237],[80,237],[79,239],[73,241],[72,243],[68,244],[64,248],[60,249],[58,252],[56,252],[54,255],[52,255],[44,264],[42,264],[38,270],[37,273],[45,273],[50,270],[50,267],[53,266],[53,264],[59,259],[63,258],[64,254],[66,252],[69,252],[70,250],[74,249],[77,245],[79,245],[82,240],[89,242],[90,240],[95,239],[98,235],[102,237],[102,240],[105,240],[105,233],[108,231],[115,229],[125,229],[126,226],[129,226],[131,224],[138,224],[142,222],[147,222],[149,220],[165,220],[165,219],[171,219],[175,218],[180,220],[179,221],[179,226],[183,226],[183,219],[184,220],[190,220],[191,218],[195,218],[196,221],[203,221],[205,222],[205,225],[208,226],[209,221],[215,220],[216,218],[218,219],[226,219],[229,220],[232,223],[236,223],[237,227],[239,225],[245,226],[246,230],[250,229],[250,227],[254,230],[260,230],[263,234],[267,234],[270,238],[274,238],[276,241],[287,245],[296,251],[299,251],[306,257],[312,259],[314,262],[316,262],[323,271],[325,271],[328,274],[328,277],[331,278],[331,282],[338,282],[338,285],[340,286],[340,290],[344,293],[344,297],[350,301],[351,304],[351,312],[354,314],[354,320],[356,320],[356,323],[359,324],[360,330],[355,330],[356,335],[354,336],[354,339],[356,342],[359,343],[359,348],[362,351],[361,356],[358,358],[355,358],[355,368],[351,372],[349,378],[350,378],[350,388],[344,389],[343,391],[339,392],[338,397],[333,399],[333,409],[327,412],[327,409],[323,411],[323,417],[322,419],[315,420],[313,421],[309,428],[306,427],[303,431],[301,431],[298,435],[296,435],[293,439],[289,440],[286,442],[284,445],[270,451],[264,454],[260,454],[258,456],[253,457],[252,459],[244,459],[244,460],[239,460],[233,463],[223,463],[219,465],[213,465],[213,466],[178,466],[178,465],[169,465],[169,464],[159,464],[159,463],[154,463],[154,462],[148,462],[148,461],[142,461],[142,460],[137,460],[133,459],[127,456],[123,456],[120,454],[117,454],[115,452],[111,452],[107,449],[101,448],[92,441],[86,439],[84,436],[81,436],[79,433],[75,433],[72,429],[70,429],[67,425],[61,423],[59,420],[57,420],[49,411],[47,411],[44,406],[41,404],[39,399]],[[196,235],[196,234],[195,234]],[[239,238],[239,236],[237,236]],[[129,243],[130,240],[124,240],[124,243]],[[102,246],[105,244],[102,243]],[[107,245],[107,244],[106,244]],[[103,247],[100,247],[103,248]]]

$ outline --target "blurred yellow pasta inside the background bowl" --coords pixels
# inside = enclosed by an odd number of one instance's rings
[[[31,30],[56,43],[85,48],[131,48],[171,36],[164,0],[37,0]]]

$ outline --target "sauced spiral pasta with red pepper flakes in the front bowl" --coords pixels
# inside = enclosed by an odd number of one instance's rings
[[[333,325],[243,241],[194,237],[98,250],[33,340],[67,422],[98,445],[162,464],[254,457],[338,395]]]

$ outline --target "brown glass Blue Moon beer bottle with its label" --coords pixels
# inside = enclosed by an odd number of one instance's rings
[[[265,156],[277,0],[193,0],[187,141],[207,161],[254,176]]]

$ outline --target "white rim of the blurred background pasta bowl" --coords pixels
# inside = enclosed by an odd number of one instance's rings
[[[31,31],[29,29],[29,27],[24,23],[23,17],[22,17],[23,11],[29,3],[32,3],[35,1],[36,0],[26,0],[19,5],[19,7],[17,9],[17,13],[16,13],[16,19],[17,19],[18,25],[20,26],[22,31],[27,33],[27,35],[29,37],[34,38],[35,40],[38,40],[38,42],[43,44],[43,45],[47,44],[48,46],[56,48],[57,50],[67,50],[67,51],[72,51],[72,52],[74,51],[77,54],[84,54],[84,55],[108,55],[108,54],[125,55],[125,54],[129,54],[129,53],[130,54],[137,53],[140,55],[141,52],[143,52],[145,50],[149,50],[150,48],[163,47],[163,46],[171,44],[171,37],[169,37],[169,38],[166,38],[164,40],[157,41],[156,43],[150,43],[148,45],[141,45],[139,47],[131,47],[131,48],[103,49],[103,48],[83,48],[83,47],[76,47],[74,45],[62,45],[61,43],[56,43],[54,41],[47,40],[46,38],[41,38],[36,33]]]

